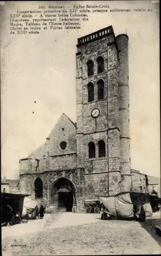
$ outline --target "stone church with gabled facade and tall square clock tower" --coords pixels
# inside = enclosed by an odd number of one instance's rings
[[[128,36],[112,26],[77,41],[76,123],[62,114],[46,142],[20,159],[20,191],[66,211],[158,179],[131,169]]]

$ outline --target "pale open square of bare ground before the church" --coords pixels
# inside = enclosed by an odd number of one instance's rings
[[[26,247],[12,247],[14,239]],[[72,212],[3,227],[2,246],[4,256],[161,253],[159,243],[139,222],[101,221],[96,214]]]

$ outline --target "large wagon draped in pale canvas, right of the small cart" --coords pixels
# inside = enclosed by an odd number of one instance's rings
[[[99,196],[102,204],[101,219],[139,218],[145,221],[146,216],[152,216],[152,209],[148,194],[136,192],[123,192],[114,196]]]

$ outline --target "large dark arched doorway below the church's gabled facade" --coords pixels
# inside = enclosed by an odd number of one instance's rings
[[[50,204],[55,205],[61,211],[73,211],[76,206],[75,193],[74,184],[69,179],[62,177],[52,184]]]

